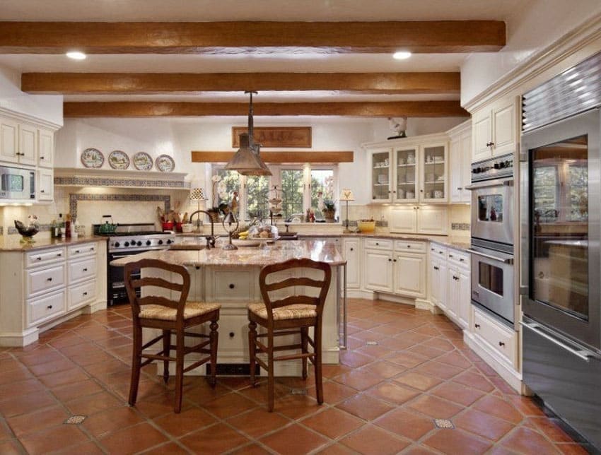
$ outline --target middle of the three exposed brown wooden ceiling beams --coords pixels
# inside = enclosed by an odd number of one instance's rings
[[[21,90],[65,95],[244,90],[459,93],[460,73],[23,73]]]

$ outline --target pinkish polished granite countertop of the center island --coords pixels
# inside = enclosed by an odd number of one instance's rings
[[[221,243],[223,244],[223,243]],[[323,261],[332,266],[345,264],[346,261],[334,244],[324,241],[291,240],[274,242],[267,247],[240,247],[226,250],[218,246],[200,251],[159,250],[135,254],[111,261],[112,266],[124,266],[139,259],[161,259],[161,261],[182,266],[265,266],[293,258],[308,258]]]

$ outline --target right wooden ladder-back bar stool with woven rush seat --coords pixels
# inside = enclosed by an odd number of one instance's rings
[[[321,279],[308,277],[284,278],[284,280],[270,280],[269,276],[301,268],[313,271],[322,271]],[[312,261],[311,259],[290,259],[279,264],[264,266],[259,275],[259,286],[263,297],[262,303],[248,305],[248,345],[250,350],[250,381],[255,382],[255,365],[258,363],[267,370],[267,394],[269,412],[274,410],[274,362],[279,360],[303,360],[303,379],[307,379],[307,359],[315,366],[315,389],[317,403],[323,403],[322,387],[322,312],[325,298],[332,280],[332,269],[325,262]],[[268,283],[268,281],[271,281]],[[313,297],[308,293],[295,295],[295,287],[303,286],[318,288],[319,295]],[[274,300],[270,293],[278,291],[279,295],[288,295]],[[313,294],[316,292],[314,291]],[[267,329],[267,333],[257,334],[257,324]],[[309,328],[313,327],[313,339],[309,336]],[[276,336],[300,334],[300,343],[291,345],[274,345]],[[267,344],[260,340],[267,338]],[[309,352],[311,345],[313,352]],[[274,357],[275,351],[301,350],[300,353],[279,355]],[[267,354],[264,362],[257,354]]]

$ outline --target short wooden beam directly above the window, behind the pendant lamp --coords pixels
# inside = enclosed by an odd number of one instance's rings
[[[228,162],[234,152],[197,151],[192,150],[192,162]],[[264,162],[270,163],[303,163],[303,162],[353,162],[353,152],[296,152],[296,151],[261,151]]]

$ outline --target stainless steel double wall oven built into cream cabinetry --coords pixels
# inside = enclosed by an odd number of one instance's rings
[[[472,303],[513,326],[513,155],[472,165]]]

